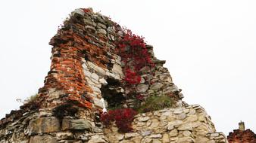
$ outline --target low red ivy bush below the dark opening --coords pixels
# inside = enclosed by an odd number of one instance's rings
[[[119,132],[132,132],[132,122],[136,111],[132,108],[121,108],[110,110],[101,114],[101,122],[109,126],[111,122],[116,123]]]

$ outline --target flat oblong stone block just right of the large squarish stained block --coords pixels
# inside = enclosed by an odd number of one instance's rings
[[[92,129],[91,123],[86,119],[68,119],[62,120],[62,130],[67,129]]]

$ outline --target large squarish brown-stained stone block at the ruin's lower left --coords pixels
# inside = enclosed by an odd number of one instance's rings
[[[28,126],[29,135],[36,135],[44,132],[60,131],[60,123],[56,117],[40,117],[31,120]]]

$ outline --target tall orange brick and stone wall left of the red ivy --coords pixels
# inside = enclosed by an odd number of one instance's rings
[[[86,108],[101,106],[101,85],[105,78],[123,77],[120,56],[114,40],[119,37],[114,23],[90,9],[73,11],[69,20],[52,38],[51,71],[39,90],[42,107],[54,107],[67,101]],[[62,91],[55,97],[49,90]]]

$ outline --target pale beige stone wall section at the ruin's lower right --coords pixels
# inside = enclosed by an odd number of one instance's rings
[[[116,126],[104,129],[111,142],[227,142],[221,132],[215,132],[211,117],[199,105],[166,108],[139,114],[133,121],[134,132],[117,132]]]

